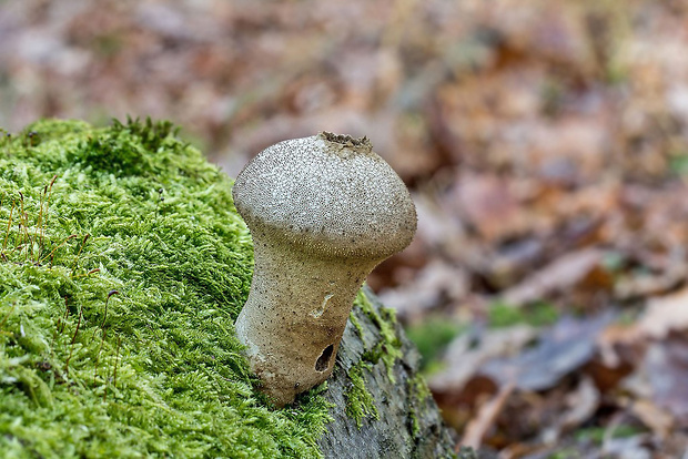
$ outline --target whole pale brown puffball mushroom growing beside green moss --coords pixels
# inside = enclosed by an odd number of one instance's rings
[[[366,137],[327,132],[267,147],[232,194],[255,261],[236,335],[282,407],[330,377],[358,288],[411,243],[416,210]]]

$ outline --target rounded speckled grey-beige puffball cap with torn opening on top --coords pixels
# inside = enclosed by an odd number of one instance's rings
[[[246,164],[232,194],[254,237],[320,256],[384,259],[416,231],[408,190],[366,137],[280,142]]]

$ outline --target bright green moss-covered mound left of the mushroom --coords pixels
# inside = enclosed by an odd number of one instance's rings
[[[312,391],[273,410],[233,324],[251,241],[230,180],[168,123],[0,140],[0,451],[317,457]]]

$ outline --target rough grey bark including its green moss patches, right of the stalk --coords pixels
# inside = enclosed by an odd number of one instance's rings
[[[326,426],[327,434],[318,441],[325,456],[456,457],[455,440],[443,425],[433,398],[419,384],[423,380],[418,374],[421,355],[401,325],[383,320],[389,314],[367,286],[363,287],[352,315],[358,326],[352,320],[344,330],[337,367],[328,380],[330,390],[324,392],[325,399],[337,407],[347,407],[348,412],[331,411],[335,420]],[[381,322],[389,327],[381,326]],[[383,328],[387,333],[383,334]],[[374,364],[366,357],[376,354],[376,348],[395,349],[397,345],[403,358],[392,365],[396,381],[392,382],[384,360],[377,358]],[[355,412],[360,416],[352,417]]]

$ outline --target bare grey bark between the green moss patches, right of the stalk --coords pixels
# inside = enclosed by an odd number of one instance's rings
[[[366,295],[380,309],[381,304],[370,289]],[[365,385],[375,400],[380,418],[363,419],[358,429],[356,421],[345,412],[351,388],[347,374],[382,337],[376,324],[360,308],[354,308],[354,315],[363,328],[363,339],[350,320],[324,394],[336,406],[331,411],[334,421],[328,424],[327,432],[320,440],[325,458],[476,458],[471,450],[454,452],[456,441],[444,425],[432,396],[421,399],[409,390],[408,382],[418,371],[421,355],[398,324],[396,333],[401,337],[403,358],[394,364],[395,381],[387,377],[382,360],[364,370]]]

